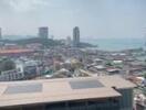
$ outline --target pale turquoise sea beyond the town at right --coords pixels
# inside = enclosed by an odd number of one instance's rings
[[[146,48],[146,38],[84,38],[82,41],[96,45],[98,50],[103,51]]]

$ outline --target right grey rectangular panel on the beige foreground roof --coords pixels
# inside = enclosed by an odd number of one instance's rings
[[[87,89],[87,88],[101,88],[104,87],[98,80],[77,80],[70,81],[72,89]]]

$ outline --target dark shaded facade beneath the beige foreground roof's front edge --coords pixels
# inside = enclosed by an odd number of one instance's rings
[[[116,98],[9,107],[3,110],[121,110]]]

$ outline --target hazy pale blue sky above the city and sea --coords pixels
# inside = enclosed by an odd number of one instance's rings
[[[2,34],[36,35],[49,26],[55,38],[144,37],[146,0],[0,0]]]

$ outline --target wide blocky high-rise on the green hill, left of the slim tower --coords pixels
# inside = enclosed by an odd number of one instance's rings
[[[39,28],[39,36],[42,38],[48,38],[49,28],[48,26]]]

